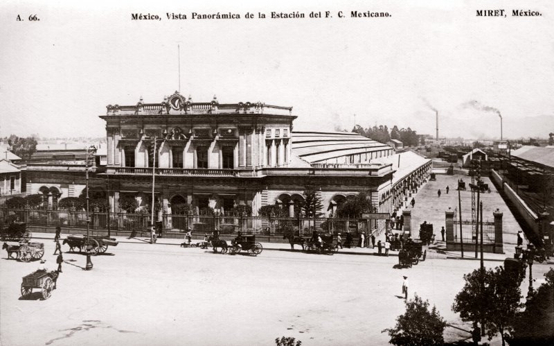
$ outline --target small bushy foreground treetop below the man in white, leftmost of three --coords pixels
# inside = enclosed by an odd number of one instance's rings
[[[391,336],[389,343],[403,346],[443,345],[446,321],[440,317],[435,306],[429,311],[429,301],[415,295],[405,302],[406,313],[396,318],[396,325],[384,329]]]

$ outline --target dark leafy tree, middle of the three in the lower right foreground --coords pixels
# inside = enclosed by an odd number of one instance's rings
[[[476,269],[463,278],[465,285],[456,295],[452,311],[460,313],[463,321],[481,322],[489,340],[500,333],[502,345],[506,345],[504,329],[510,326],[517,311],[523,306],[519,302],[521,282],[504,275],[500,267]]]

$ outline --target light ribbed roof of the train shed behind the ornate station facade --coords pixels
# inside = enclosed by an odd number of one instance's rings
[[[353,132],[292,132],[292,153],[307,162],[390,149]]]

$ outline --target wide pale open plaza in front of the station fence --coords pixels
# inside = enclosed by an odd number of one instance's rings
[[[55,243],[39,241],[54,269]],[[38,262],[8,260],[3,252],[1,345],[271,345],[280,336],[303,345],[386,345],[382,329],[404,311],[402,275],[409,276],[410,297],[418,293],[451,325],[469,329],[450,306],[463,274],[479,261],[428,258],[395,269],[395,255],[366,249],[351,250],[366,255],[328,256],[264,243],[268,249],[251,257],[163,241],[120,243],[92,257],[91,271],[80,268],[83,255],[64,253],[71,264],[64,263],[58,288],[44,301],[20,299],[21,277]],[[535,264],[533,274],[542,277],[548,268]],[[468,336],[452,327],[445,332],[447,340]]]

